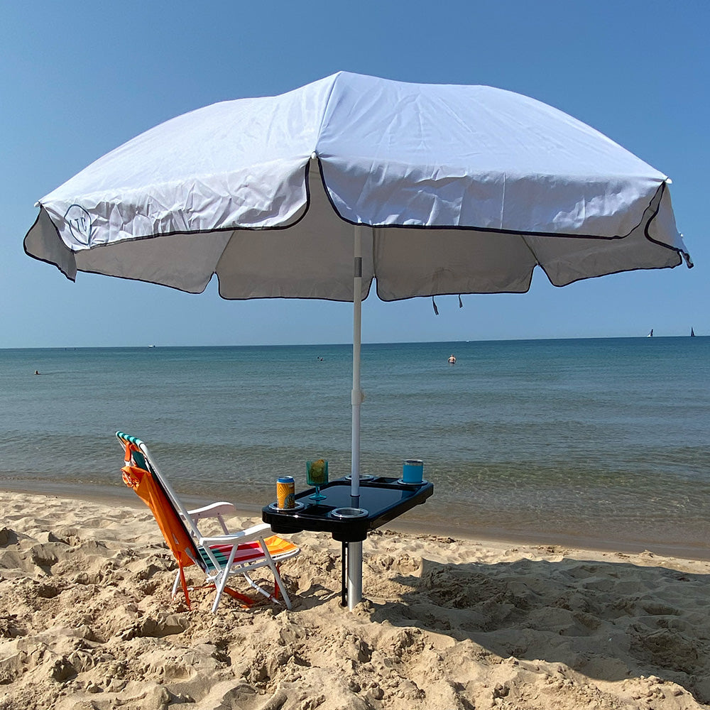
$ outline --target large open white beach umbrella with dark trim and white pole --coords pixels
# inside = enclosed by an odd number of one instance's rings
[[[228,299],[353,302],[356,501],[373,281],[389,301],[525,292],[536,266],[559,286],[692,266],[669,184],[535,99],[339,72],[142,133],[43,197],[24,246],[72,280],[200,293],[217,274]]]

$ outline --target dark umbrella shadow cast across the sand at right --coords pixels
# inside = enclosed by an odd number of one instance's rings
[[[563,663],[602,681],[658,676],[710,701],[710,577],[628,562],[422,560],[373,621],[469,640],[506,659]]]

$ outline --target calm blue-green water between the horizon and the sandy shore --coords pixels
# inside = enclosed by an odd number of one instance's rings
[[[351,346],[8,349],[0,376],[6,488],[132,496],[116,430],[255,514],[307,459],[350,472]],[[710,556],[710,337],[365,344],[361,384],[361,472],[435,484],[401,523]]]

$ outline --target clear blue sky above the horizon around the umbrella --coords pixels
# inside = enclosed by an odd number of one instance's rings
[[[350,342],[351,306],[224,301],[28,258],[35,200],[151,126],[338,70],[540,99],[670,175],[696,266],[364,303],[363,341],[710,335],[710,3],[310,0],[0,6],[0,347]],[[140,314],[131,327],[120,310]]]

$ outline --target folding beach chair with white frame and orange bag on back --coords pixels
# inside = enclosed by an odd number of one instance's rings
[[[151,508],[165,542],[178,562],[173,599],[178,594],[178,585],[181,585],[187,608],[190,608],[185,568],[195,564],[204,572],[206,585],[216,589],[212,613],[217,612],[223,592],[238,599],[244,606],[253,605],[251,597],[226,586],[227,579],[234,574],[241,574],[256,591],[275,603],[281,603],[278,599],[278,596],[281,596],[286,608],[291,608],[279,567],[285,559],[300,553],[298,547],[277,535],[268,535],[271,528],[264,524],[254,525],[239,532],[229,532],[224,515],[234,513],[231,503],[212,503],[204,508],[187,510],[165,476],[158,470],[146,444],[141,439],[123,432],[116,432],[116,437],[124,448],[124,466],[121,469],[124,483],[133,488],[148,508]],[[206,518],[217,518],[224,535],[202,535],[197,528],[197,522]],[[251,577],[250,573],[260,567],[271,569],[274,579],[273,594],[263,589]]]

